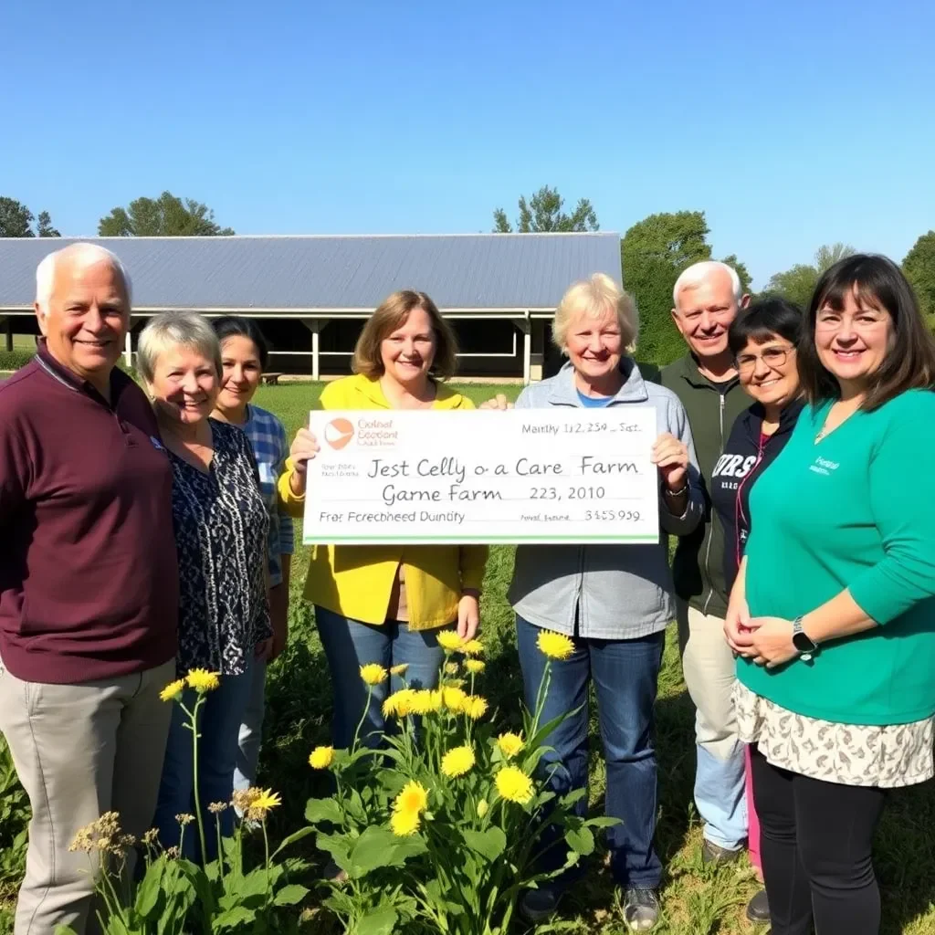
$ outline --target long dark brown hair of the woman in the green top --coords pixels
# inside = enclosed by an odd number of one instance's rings
[[[931,389],[935,339],[919,312],[913,287],[892,260],[857,253],[828,268],[815,286],[798,345],[798,374],[806,399],[815,405],[841,395],[837,378],[818,356],[815,322],[821,309],[843,310],[848,295],[855,295],[862,306],[888,312],[892,321],[886,356],[870,374],[861,409],[872,412],[906,390]]]

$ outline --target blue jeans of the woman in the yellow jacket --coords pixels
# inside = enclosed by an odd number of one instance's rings
[[[335,698],[334,745],[348,749],[354,731],[364,715],[367,685],[361,681],[360,667],[376,662],[389,669],[406,664],[405,680],[411,688],[434,688],[445,654],[439,646],[440,629],[410,630],[405,623],[387,621],[382,626],[364,624],[315,605],[315,621],[324,654],[331,671]],[[382,704],[390,692],[403,688],[403,680],[392,676],[389,685],[374,685],[359,741],[379,746],[386,727]]]

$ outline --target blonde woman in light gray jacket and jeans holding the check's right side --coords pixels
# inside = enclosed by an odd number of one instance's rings
[[[577,712],[547,741],[554,751],[543,767],[559,794],[587,784],[588,687],[594,682],[607,763],[606,808],[621,824],[611,827],[611,870],[624,890],[624,917],[634,931],[653,928],[662,865],[653,845],[656,761],[653,707],[665,628],[675,616],[666,534],[683,536],[701,521],[704,494],[691,429],[670,390],[644,381],[626,355],[637,336],[633,300],[609,276],[575,283],[555,312],[554,340],[568,363],[549,380],[527,386],[517,409],[641,407],[655,410],[659,469],[659,539],[651,545],[521,545],[510,601],[532,707],[545,659],[540,629],[564,633],[574,652],[554,663],[545,702],[546,721]],[[504,408],[502,397],[485,404]],[[582,813],[586,798],[579,800]],[[546,852],[554,867],[565,861],[559,834]],[[553,913],[571,879],[530,890],[521,902],[529,921]]]

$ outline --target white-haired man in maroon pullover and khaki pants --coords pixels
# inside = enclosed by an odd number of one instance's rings
[[[94,244],[36,270],[36,358],[0,383],[0,730],[29,795],[16,935],[89,918],[69,853],[107,811],[151,825],[175,677],[172,472],[146,396],[115,367],[130,322],[120,261]],[[92,913],[93,914],[93,913]]]

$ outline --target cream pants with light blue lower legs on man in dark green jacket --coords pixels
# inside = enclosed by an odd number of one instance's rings
[[[733,691],[737,663],[724,620],[678,601],[679,647],[688,694],[695,702],[695,804],[708,841],[729,851],[747,837],[745,746],[737,735]]]

